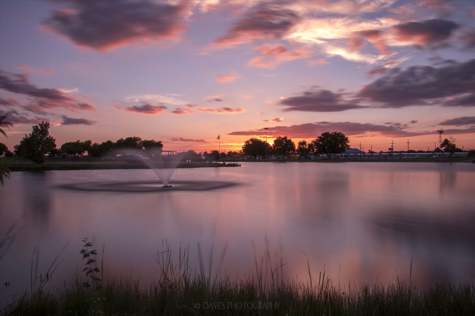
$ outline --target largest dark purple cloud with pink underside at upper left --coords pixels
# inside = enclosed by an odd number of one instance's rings
[[[45,27],[78,46],[98,51],[142,42],[160,42],[185,29],[187,1],[76,0],[72,9],[53,10]]]

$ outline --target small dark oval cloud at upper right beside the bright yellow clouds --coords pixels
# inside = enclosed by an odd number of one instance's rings
[[[432,19],[423,22],[407,22],[394,27],[396,36],[401,41],[417,45],[430,45],[445,41],[452,31],[460,27],[449,20]]]

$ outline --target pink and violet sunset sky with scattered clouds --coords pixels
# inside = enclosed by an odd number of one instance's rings
[[[0,114],[10,150],[129,136],[164,150],[297,144],[475,147],[475,1],[2,0]],[[372,146],[372,147],[371,147]]]

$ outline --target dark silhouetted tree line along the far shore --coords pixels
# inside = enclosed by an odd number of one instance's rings
[[[10,123],[5,122],[4,118],[5,116],[1,117],[1,125],[8,127]],[[0,129],[0,133],[6,136],[2,129]],[[440,147],[452,155],[456,151],[460,151],[460,149],[456,147],[455,142],[456,140],[452,137],[449,139],[446,138]],[[63,157],[70,155],[79,158],[87,152],[90,157],[98,158],[106,155],[117,156],[125,153],[127,149],[136,149],[151,158],[155,151],[161,150],[162,148],[163,144],[161,141],[142,139],[138,136],[119,138],[115,142],[108,140],[100,144],[93,143],[90,139],[85,141],[76,140],[64,143],[57,148],[56,139],[49,135],[49,123],[43,121],[38,125],[32,126],[32,132],[28,135],[25,134],[19,144],[14,146],[13,152],[10,152],[5,144],[0,143],[0,156],[16,155],[35,163],[43,163],[46,154],[49,156],[62,155]],[[343,153],[348,148],[351,148],[348,136],[342,132],[324,132],[308,143],[305,140],[299,141],[297,146],[295,146],[292,139],[287,136],[276,137],[272,145],[254,137],[244,142],[240,152],[228,151],[228,153],[219,153],[217,150],[213,150],[210,153],[205,151],[201,155],[201,153],[189,150],[179,153],[178,159],[180,161],[203,161],[203,158],[219,160],[241,153],[253,156],[254,158],[257,158],[257,156],[263,157],[266,153],[267,155],[286,157],[292,153],[299,153],[300,155],[308,153]]]

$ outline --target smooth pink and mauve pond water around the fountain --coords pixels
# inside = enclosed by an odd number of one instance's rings
[[[62,188],[96,181],[154,181],[151,170],[13,172],[0,190],[0,231],[17,232],[1,260],[1,295],[30,284],[33,249],[38,271],[60,254],[52,285],[82,268],[81,239],[105,243],[104,270],[147,282],[159,277],[153,257],[162,241],[190,245],[198,266],[243,275],[264,254],[283,249],[284,273],[304,279],[326,270],[333,284],[409,279],[417,284],[475,277],[475,164],[242,163],[237,168],[178,169],[171,181],[231,181],[209,191],[108,192]],[[61,253],[63,246],[69,242]],[[255,244],[256,250],[253,245]],[[213,251],[212,251],[213,250]],[[256,253],[256,254],[255,254]],[[209,273],[209,272],[207,272]]]

